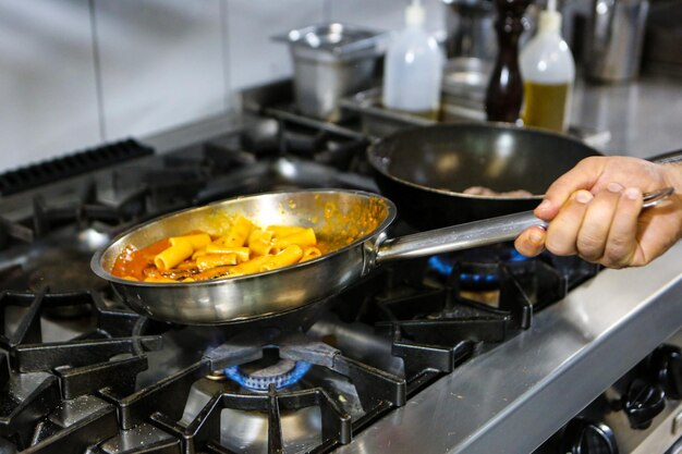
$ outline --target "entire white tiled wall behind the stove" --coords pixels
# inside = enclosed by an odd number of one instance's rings
[[[341,21],[402,26],[406,0],[4,0],[0,172],[234,111],[245,87],[287,77],[270,37]],[[428,28],[444,26],[425,0]]]

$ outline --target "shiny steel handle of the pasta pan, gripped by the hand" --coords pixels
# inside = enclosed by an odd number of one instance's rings
[[[643,195],[643,208],[658,205],[673,193],[672,187]],[[501,216],[483,221],[468,222],[413,235],[378,242],[375,246],[376,263],[390,260],[452,253],[472,247],[488,246],[516,238],[531,226],[547,228],[548,223],[537,218],[533,211]]]

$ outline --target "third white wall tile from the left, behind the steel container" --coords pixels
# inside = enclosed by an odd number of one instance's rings
[[[270,38],[320,23],[325,0],[227,0],[229,68],[232,89],[291,75],[287,45]]]

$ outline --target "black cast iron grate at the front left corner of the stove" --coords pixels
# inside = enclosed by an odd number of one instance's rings
[[[53,316],[62,307],[72,314],[74,306],[90,308],[92,330],[68,341],[44,342],[42,316]],[[160,347],[158,335],[142,334],[146,319],[107,308],[98,292],[5,291],[0,293],[0,347],[7,352],[0,365],[0,437],[20,450],[49,453],[76,442],[85,443],[80,444],[84,452],[115,434],[115,407],[101,400],[96,400],[100,405],[86,405],[89,410],[77,420],[71,417],[69,424],[48,415],[72,414],[70,406],[78,408],[101,388],[133,392],[135,376],[146,369],[144,353]],[[5,320],[9,310],[20,312],[11,330]],[[111,359],[117,355],[132,356]]]

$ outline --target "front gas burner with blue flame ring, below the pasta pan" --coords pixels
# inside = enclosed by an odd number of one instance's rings
[[[243,371],[243,366],[232,366],[224,369],[226,376],[236,383],[249,390],[267,391],[270,384],[280,390],[297,383],[308,370],[310,364],[305,361],[292,361],[290,359],[280,359],[272,366],[254,372]]]

